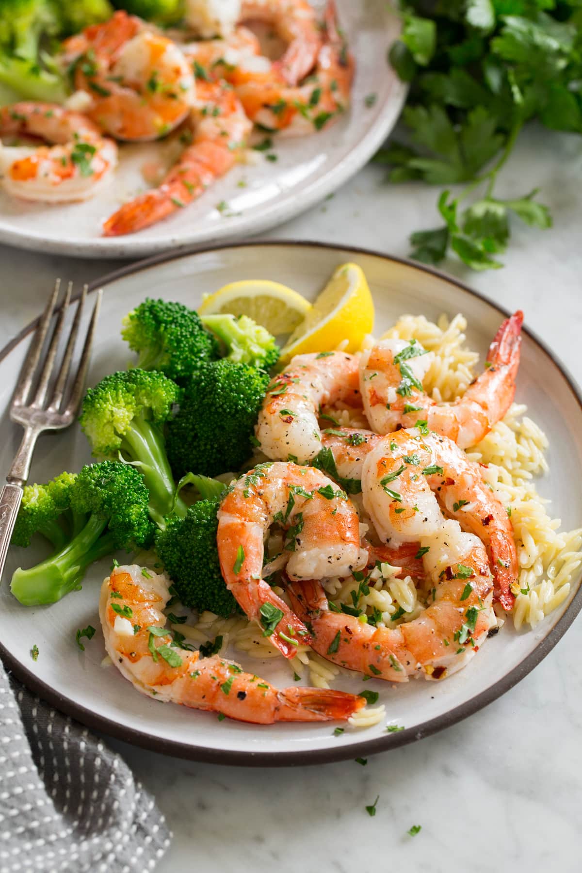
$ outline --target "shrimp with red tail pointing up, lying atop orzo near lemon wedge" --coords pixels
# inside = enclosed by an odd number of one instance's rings
[[[524,313],[503,321],[486,369],[454,403],[436,403],[422,390],[432,353],[416,340],[381,340],[362,354],[360,389],[373,430],[392,433],[421,420],[462,449],[483,439],[510,408],[516,390]]]

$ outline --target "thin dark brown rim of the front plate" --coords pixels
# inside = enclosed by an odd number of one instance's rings
[[[231,244],[226,243],[204,247],[190,246],[188,249],[181,249],[180,251],[176,252],[162,252],[161,254],[156,254],[152,256],[151,258],[145,258],[136,261],[133,264],[125,265],[123,267],[120,267],[120,269],[118,270],[107,273],[106,276],[99,279],[98,281],[92,282],[91,285],[89,285],[89,291],[93,292],[101,287],[106,288],[106,285],[111,285],[111,283],[117,281],[120,278],[131,275],[135,272],[141,272],[148,269],[149,267],[163,264],[167,261],[176,260],[178,258],[188,258],[190,255],[205,254],[211,251],[223,251],[225,249],[260,248],[261,246],[284,246],[291,249],[298,246],[303,248],[332,249],[334,251],[353,252],[356,255],[368,255],[373,256],[374,258],[381,258],[382,260],[388,262],[405,265],[413,270],[429,273],[433,276],[437,276],[438,278],[442,278],[444,281],[452,285],[456,285],[456,287],[462,289],[462,291],[468,292],[473,297],[483,300],[483,303],[491,306],[492,309],[496,310],[496,312],[501,314],[504,318],[507,318],[510,315],[508,310],[506,310],[503,306],[499,306],[498,304],[492,302],[482,293],[475,291],[473,288],[470,288],[469,285],[465,285],[465,283],[462,282],[460,279],[449,276],[447,273],[435,269],[435,267],[419,264],[418,262],[412,261],[409,258],[399,258],[394,255],[387,255],[381,251],[374,251],[373,249],[366,249],[350,244],[342,245],[339,243],[319,243],[311,240],[251,240],[250,242]],[[12,349],[15,348],[20,342],[22,342],[29,333],[31,333],[34,327],[36,327],[37,323],[38,319],[31,321],[30,324],[28,324],[19,333],[17,333],[14,339],[10,340],[10,342],[8,342],[6,346],[3,347],[3,349],[0,351],[0,362],[2,362],[4,358],[6,358],[8,354],[10,354]],[[544,340],[541,340],[540,337],[537,336],[537,333],[534,333],[528,327],[524,327],[523,330],[524,333],[534,343],[536,343],[539,348],[541,348],[544,354],[546,354],[550,358],[552,363],[564,376],[565,381],[567,382],[569,388],[572,390],[572,394],[578,402],[580,409],[582,409],[582,392],[580,391],[578,383],[570,374],[568,369],[561,361],[559,361],[556,355],[553,354],[553,352],[546,345]],[[23,664],[19,663],[17,659],[12,656],[10,651],[7,650],[1,642],[0,656],[2,657],[3,663],[6,668],[10,670],[14,674],[14,676],[17,677],[17,679],[24,683],[27,688],[29,688],[35,694],[38,694],[39,698],[46,700],[49,704],[56,707],[59,711],[65,712],[66,715],[71,716],[72,718],[76,718],[79,722],[81,722],[81,724],[86,725],[86,727],[89,727],[95,731],[108,734],[115,739],[121,739],[124,742],[130,743],[134,746],[140,746],[141,748],[145,748],[162,754],[174,755],[178,758],[208,762],[213,764],[236,766],[297,766],[307,764],[326,764],[333,761],[353,759],[355,757],[358,757],[359,755],[370,755],[374,753],[385,752],[388,749],[393,749],[398,746],[406,746],[408,743],[412,743],[418,739],[424,739],[425,737],[428,737],[433,733],[442,731],[444,728],[449,727],[450,725],[455,725],[456,722],[462,721],[463,718],[468,718],[470,715],[473,715],[475,712],[483,709],[484,706],[487,706],[497,698],[500,698],[503,694],[505,694],[506,691],[510,691],[510,689],[513,688],[514,685],[516,685],[525,676],[527,676],[527,674],[530,673],[531,670],[533,670],[534,667],[536,667],[537,664],[540,663],[544,659],[544,657],[549,654],[549,652],[554,648],[554,646],[558,643],[562,636],[564,636],[565,631],[571,626],[572,622],[579,614],[580,609],[582,609],[582,585],[579,586],[576,594],[572,598],[570,605],[568,606],[568,608],[566,608],[564,615],[560,616],[558,622],[556,622],[556,624],[553,626],[553,628],[551,628],[546,636],[544,636],[544,638],[540,640],[535,650],[533,650],[528,656],[524,657],[524,660],[521,663],[517,664],[517,667],[514,667],[513,670],[510,670],[510,672],[507,673],[506,676],[499,679],[486,691],[483,691],[481,694],[477,694],[474,698],[470,698],[462,705],[456,706],[455,709],[444,712],[442,713],[442,715],[437,716],[436,718],[430,718],[428,719],[428,721],[423,722],[421,725],[416,725],[413,728],[407,728],[400,732],[390,733],[386,736],[382,736],[376,739],[363,739],[361,742],[351,744],[350,746],[342,746],[341,740],[339,740],[338,746],[334,748],[314,749],[312,751],[304,749],[298,752],[281,753],[220,751],[217,749],[208,749],[202,746],[190,745],[188,743],[181,743],[171,739],[161,739],[144,731],[138,731],[134,728],[118,725],[112,719],[100,716],[92,710],[87,709],[85,706],[80,706],[79,704],[76,704],[70,698],[65,698],[65,696],[59,694],[58,691],[54,691],[54,689],[52,689],[50,685],[38,679],[38,677],[36,677],[31,670],[24,667]]]

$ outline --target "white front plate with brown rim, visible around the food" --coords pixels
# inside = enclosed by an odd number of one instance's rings
[[[120,321],[147,295],[198,306],[203,292],[214,292],[234,279],[270,278],[314,298],[339,264],[355,261],[366,272],[376,306],[376,333],[402,313],[463,313],[469,320],[471,347],[484,353],[506,313],[455,279],[427,267],[373,252],[323,244],[241,244],[198,253],[153,258],[103,281],[105,294],[92,357],[90,382],[115,368],[125,368],[129,354],[120,340]],[[525,312],[527,322],[527,310]],[[0,353],[0,469],[7,470],[19,430],[10,424],[10,392],[24,359],[33,326]],[[565,529],[580,525],[582,492],[572,483],[582,471],[582,402],[572,378],[527,329],[517,378],[517,400],[550,438],[551,476],[539,488],[551,498],[552,512]],[[43,436],[31,481],[46,481],[58,472],[78,470],[90,460],[85,437],[75,425],[61,436]],[[0,588],[0,650],[4,662],[25,684],[86,725],[140,746],[196,760],[283,765],[353,758],[421,739],[465,718],[523,678],[552,649],[582,607],[579,578],[557,612],[535,631],[517,633],[511,622],[489,640],[470,663],[442,683],[411,681],[394,687],[378,680],[362,686],[360,677],[341,680],[346,691],[366,687],[380,693],[387,723],[406,730],[387,733],[386,723],[366,731],[346,729],[333,736],[334,725],[243,725],[216,715],[163,705],[134,691],[113,666],[100,666],[105,655],[100,629],[86,651],[75,632],[87,623],[99,628],[99,584],[110,561],[92,567],[82,591],[46,608],[24,608],[11,595],[10,574],[22,561],[30,566],[39,553],[11,549]],[[40,652],[31,660],[33,643]],[[281,686],[291,683],[284,664],[245,659],[243,666]]]

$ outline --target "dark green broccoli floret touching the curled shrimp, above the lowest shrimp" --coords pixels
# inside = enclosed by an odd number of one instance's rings
[[[185,519],[169,519],[155,549],[184,606],[228,616],[238,607],[220,572],[217,509],[216,498],[199,500]]]

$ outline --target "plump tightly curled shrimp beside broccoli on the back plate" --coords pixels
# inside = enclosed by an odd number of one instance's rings
[[[64,44],[87,114],[118,140],[156,140],[187,118],[195,79],[180,48],[140,18],[117,11]]]

